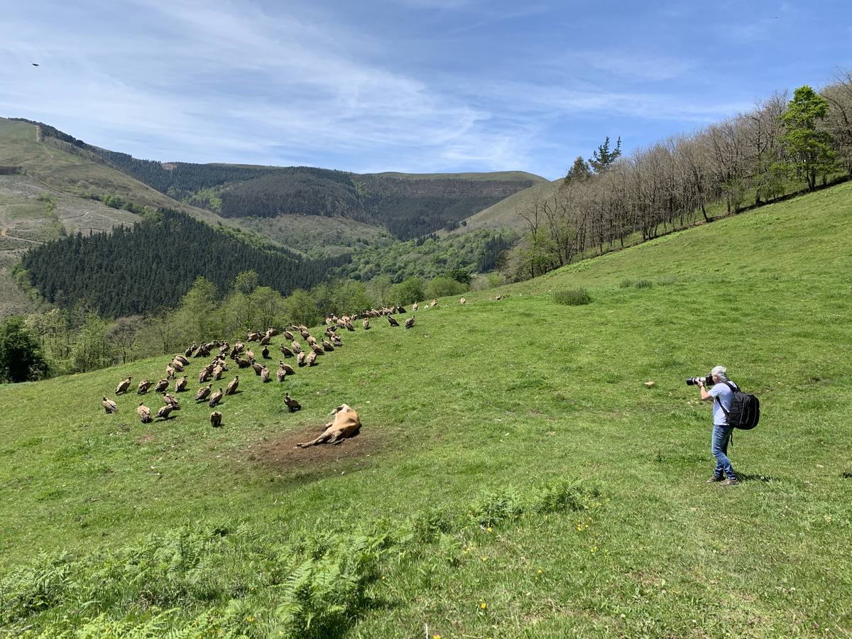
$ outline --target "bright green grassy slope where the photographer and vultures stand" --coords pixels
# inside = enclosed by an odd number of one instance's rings
[[[188,393],[104,414],[166,358],[0,388],[3,627],[843,636],[850,207],[846,184],[359,326],[281,386],[243,371],[222,429]],[[729,489],[683,381],[719,363],[763,406]],[[294,451],[342,401],[362,434]]]

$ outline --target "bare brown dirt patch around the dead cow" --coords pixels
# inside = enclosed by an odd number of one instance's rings
[[[263,440],[251,446],[248,451],[248,460],[279,471],[304,472],[327,469],[337,463],[354,459],[370,458],[382,448],[382,441],[376,431],[369,427],[362,430],[359,435],[343,440],[340,444],[296,447],[296,444],[300,442],[313,440],[323,430],[321,425],[310,426],[279,438]]]

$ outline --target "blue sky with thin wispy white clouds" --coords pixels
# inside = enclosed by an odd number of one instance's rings
[[[629,153],[852,69],[848,0],[3,0],[0,16],[0,115],[163,161],[555,179],[607,135]]]

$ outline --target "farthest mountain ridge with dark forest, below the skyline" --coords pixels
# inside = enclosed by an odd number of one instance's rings
[[[387,228],[400,239],[454,227],[544,180],[522,171],[359,175],[306,166],[161,163],[94,147],[47,124],[32,124],[70,153],[101,158],[159,193],[227,218],[340,217]]]

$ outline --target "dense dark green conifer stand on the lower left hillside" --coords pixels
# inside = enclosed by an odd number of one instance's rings
[[[161,210],[132,228],[77,234],[23,256],[32,285],[49,302],[89,300],[102,315],[147,314],[172,307],[199,276],[221,290],[247,270],[287,295],[325,279],[348,256],[301,260],[286,250],[260,250],[177,210]],[[57,268],[62,265],[63,268]]]

